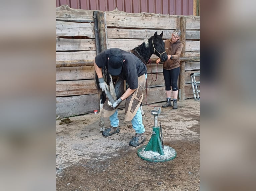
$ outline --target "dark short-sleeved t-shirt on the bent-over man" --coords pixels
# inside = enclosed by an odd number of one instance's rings
[[[119,49],[121,50],[121,49]],[[106,66],[108,68],[108,57],[110,49],[107,49],[95,57],[95,63],[99,68]],[[118,75],[126,80],[129,88],[134,90],[138,88],[138,77],[147,73],[147,67],[134,54],[121,50],[124,57],[122,72]]]

